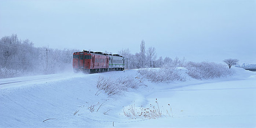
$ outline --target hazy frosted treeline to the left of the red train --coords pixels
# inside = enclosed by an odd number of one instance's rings
[[[36,48],[17,34],[0,39],[0,78],[53,74],[72,69],[72,53],[77,50]]]

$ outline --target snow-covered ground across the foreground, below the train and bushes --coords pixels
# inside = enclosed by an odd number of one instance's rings
[[[256,72],[232,70],[232,78],[145,81],[147,87],[111,97],[95,95],[99,76],[135,78],[137,70],[0,79],[0,127],[256,127]],[[149,107],[156,98],[165,116],[124,116],[123,107]]]

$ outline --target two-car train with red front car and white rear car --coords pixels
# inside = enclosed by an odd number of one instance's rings
[[[87,50],[73,53],[74,72],[83,71],[91,74],[106,71],[123,71],[124,67],[124,57],[119,54]]]

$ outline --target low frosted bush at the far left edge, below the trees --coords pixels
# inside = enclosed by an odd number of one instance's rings
[[[21,75],[22,70],[8,69],[0,65],[0,79],[1,78],[12,78]]]

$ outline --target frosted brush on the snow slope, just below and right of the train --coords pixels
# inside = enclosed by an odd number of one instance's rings
[[[97,81],[97,89],[95,95],[98,95],[100,90],[103,90],[107,95],[116,95],[122,94],[123,91],[127,91],[129,88],[136,89],[139,86],[143,86],[141,79],[134,78],[131,76],[126,76],[124,78],[105,78],[103,76],[99,76]]]

